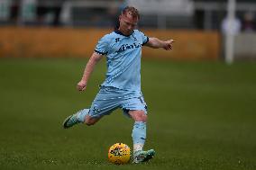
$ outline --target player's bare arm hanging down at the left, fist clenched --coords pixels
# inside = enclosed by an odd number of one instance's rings
[[[101,58],[103,58],[103,55],[101,54],[98,54],[96,52],[92,54],[91,58],[87,62],[87,66],[84,70],[84,75],[78,83],[77,88],[79,91],[84,91],[87,88],[88,79],[94,71],[96,64],[98,63],[98,61],[100,61]]]

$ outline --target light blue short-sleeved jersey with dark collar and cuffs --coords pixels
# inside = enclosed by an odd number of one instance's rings
[[[140,92],[142,45],[148,41],[149,38],[138,30],[129,36],[113,31],[99,40],[95,51],[106,55],[107,62],[102,86]]]

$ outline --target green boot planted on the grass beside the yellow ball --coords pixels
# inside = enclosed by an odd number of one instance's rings
[[[147,151],[143,151],[143,150],[137,151],[133,155],[133,164],[147,162],[151,158],[153,158],[155,154],[156,152],[154,151],[154,149],[150,149]]]

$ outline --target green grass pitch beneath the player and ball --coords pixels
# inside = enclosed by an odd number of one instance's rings
[[[256,169],[256,63],[143,60],[147,142],[156,157],[114,166],[107,149],[133,147],[133,121],[121,111],[95,126],[63,130],[88,107],[105,77],[101,62],[76,90],[87,59],[0,59],[0,169]]]

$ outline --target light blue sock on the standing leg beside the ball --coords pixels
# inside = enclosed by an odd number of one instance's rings
[[[142,150],[146,140],[146,122],[135,121],[133,125],[133,152]]]

